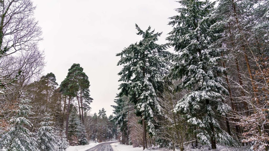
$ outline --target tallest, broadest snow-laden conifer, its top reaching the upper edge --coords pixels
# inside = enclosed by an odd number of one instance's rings
[[[169,59],[173,64],[168,75],[179,79],[175,91],[187,89],[190,93],[180,99],[174,112],[182,112],[190,124],[196,126],[198,140],[203,144],[216,142],[232,144],[232,137],[219,125],[220,116],[231,110],[224,103],[228,91],[220,77],[225,69],[220,66],[221,52],[218,39],[220,29],[209,13],[214,3],[199,0],[181,0],[177,16],[170,17],[174,29],[167,40],[178,54]]]

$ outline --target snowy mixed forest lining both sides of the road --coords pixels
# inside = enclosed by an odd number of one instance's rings
[[[90,112],[94,98],[79,63],[59,84],[43,73],[33,2],[0,0],[0,150],[118,140],[143,150],[268,151],[269,1],[180,0],[175,7],[167,43],[158,43],[162,32],[135,24],[141,40],[116,54],[121,84],[107,116],[104,108]]]

